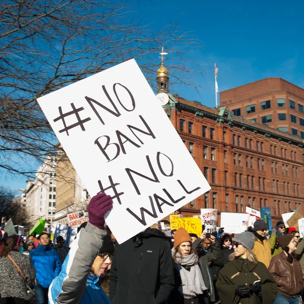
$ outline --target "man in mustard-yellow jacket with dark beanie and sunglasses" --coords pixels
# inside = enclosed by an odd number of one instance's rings
[[[253,253],[257,260],[262,262],[267,268],[271,261],[270,242],[265,238],[267,224],[262,219],[257,219],[253,224],[253,234],[255,236]]]

